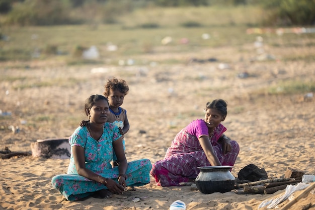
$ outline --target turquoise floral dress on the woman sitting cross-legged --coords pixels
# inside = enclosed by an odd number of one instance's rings
[[[71,146],[70,164],[67,174],[56,175],[51,184],[59,190],[67,200],[78,200],[100,189],[107,189],[104,184],[87,179],[77,174],[72,154],[72,146],[81,146],[85,151],[86,168],[91,171],[118,182],[118,167],[112,168],[113,142],[121,137],[119,129],[112,123],[105,123],[101,138],[96,141],[90,136],[87,127],[78,127],[69,138]],[[142,186],[150,182],[149,159],[140,159],[128,163],[126,171],[127,186]]]

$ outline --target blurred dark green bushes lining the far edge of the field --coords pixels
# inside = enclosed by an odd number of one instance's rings
[[[2,25],[116,23],[120,15],[152,7],[260,7],[268,12],[261,25],[315,24],[315,0],[0,0]],[[84,15],[82,15],[84,14]]]

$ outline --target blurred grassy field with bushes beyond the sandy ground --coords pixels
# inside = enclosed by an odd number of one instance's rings
[[[117,65],[130,56],[240,47],[257,35],[274,47],[315,44],[314,33],[287,33],[281,40],[275,33],[313,27],[315,0],[0,0],[0,15],[0,62]],[[266,28],[272,33],[259,31]],[[82,59],[91,46],[99,59]]]

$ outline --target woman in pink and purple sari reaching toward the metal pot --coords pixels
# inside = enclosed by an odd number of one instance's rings
[[[205,119],[194,120],[176,135],[164,159],[152,165],[150,174],[157,185],[189,182],[197,177],[201,166],[234,165],[240,147],[223,134],[226,107],[222,99],[207,102]]]

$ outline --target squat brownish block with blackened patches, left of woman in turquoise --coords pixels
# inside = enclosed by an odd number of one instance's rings
[[[67,159],[70,157],[70,144],[67,138],[38,139],[31,144],[32,156]]]

